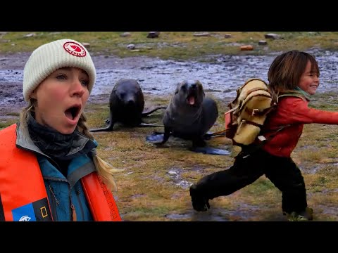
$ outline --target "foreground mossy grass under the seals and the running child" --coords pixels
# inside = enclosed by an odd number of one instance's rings
[[[168,100],[169,98],[161,98]],[[158,98],[146,97],[148,106],[158,103]],[[325,110],[338,110],[337,96],[323,93],[315,96],[311,106]],[[220,112],[226,103],[218,101]],[[107,105],[91,104],[88,107],[89,125],[104,125],[108,117]],[[162,112],[145,119],[161,122]],[[213,131],[223,129],[223,117],[218,118]],[[262,176],[228,197],[211,200],[212,209],[206,214],[192,210],[189,183],[201,176],[229,167],[239,151],[232,155],[203,155],[188,150],[190,143],[170,138],[165,148],[156,148],[145,138],[153,128],[125,129],[116,125],[115,131],[95,133],[100,146],[98,153],[117,168],[119,191],[115,194],[118,206],[127,221],[279,221],[281,193]],[[161,131],[163,129],[157,128]],[[209,141],[213,147],[231,148],[227,138]],[[338,221],[338,136],[337,126],[312,124],[304,128],[301,141],[292,153],[306,182],[308,205],[315,209],[315,220]],[[177,183],[180,183],[178,185]],[[182,184],[183,182],[183,184]],[[185,184],[184,184],[185,182]]]

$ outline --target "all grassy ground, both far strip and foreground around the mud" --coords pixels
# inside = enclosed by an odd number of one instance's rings
[[[258,46],[268,32],[211,32],[211,37],[194,37],[193,32],[161,32],[158,39],[147,39],[147,32],[9,32],[0,36],[0,53],[32,51],[52,39],[69,37],[90,43],[94,54],[126,56],[156,56],[187,59],[209,54],[264,54],[289,48],[306,50],[314,46],[337,50],[338,32],[275,32],[284,39],[267,40],[268,46]],[[232,38],[225,39],[230,33]],[[130,51],[127,44],[135,44],[139,51]],[[16,46],[11,46],[15,44]],[[239,45],[253,44],[253,51],[239,51]],[[169,96],[146,96],[146,107],[168,103]],[[227,101],[218,100],[220,117],[211,129],[223,129],[222,113]],[[314,96],[311,106],[323,110],[338,110],[335,93]],[[104,126],[108,105],[89,103],[86,108],[92,128]],[[146,122],[161,122],[163,111],[147,117]],[[0,129],[18,119],[9,113]],[[124,128],[115,125],[112,132],[94,133],[99,142],[98,154],[116,168],[125,171],[115,175],[118,193],[115,197],[125,221],[282,221],[281,193],[268,179],[258,181],[227,197],[211,200],[211,209],[196,213],[189,197],[189,184],[201,176],[229,167],[239,149],[227,138],[208,142],[213,147],[230,148],[229,156],[203,155],[189,151],[190,143],[170,138],[164,148],[156,148],[145,138],[159,128]],[[308,205],[315,210],[316,221],[338,221],[338,136],[337,126],[311,124],[303,135],[292,157],[299,164],[306,182]]]

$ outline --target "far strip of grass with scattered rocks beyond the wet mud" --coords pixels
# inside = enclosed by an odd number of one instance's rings
[[[273,32],[281,39],[265,39],[271,32],[209,32],[209,37],[195,37],[200,32],[161,32],[158,38],[147,38],[148,32],[130,32],[130,37],[120,37],[123,32],[8,32],[0,35],[0,53],[32,51],[37,46],[54,39],[70,38],[89,43],[93,54],[113,54],[119,57],[151,56],[163,59],[192,59],[210,54],[266,54],[286,51],[289,48],[306,51],[320,47],[338,49],[338,32]],[[35,34],[26,37],[27,34]],[[225,38],[225,34],[232,37]],[[268,41],[258,46],[258,41]],[[134,44],[134,50],[127,45]],[[253,51],[240,51],[242,45],[251,44]]]

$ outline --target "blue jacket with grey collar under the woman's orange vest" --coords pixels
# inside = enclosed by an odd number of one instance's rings
[[[75,140],[78,150],[90,141],[89,138],[79,133]],[[65,177],[54,163],[49,162],[47,159],[49,157],[34,145],[29,134],[25,133],[21,127],[17,128],[16,146],[30,150],[37,155],[54,221],[72,221],[73,212],[75,212],[77,221],[94,220],[80,182],[82,177],[96,170],[89,154],[70,160],[68,174]]]

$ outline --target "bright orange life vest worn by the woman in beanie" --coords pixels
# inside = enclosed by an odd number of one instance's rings
[[[37,157],[16,148],[15,129],[13,124],[0,131],[0,221],[18,220],[18,208],[25,208],[37,221],[52,221]],[[96,172],[84,176],[81,183],[94,221],[122,221],[111,191]],[[28,217],[20,220],[27,221]]]

